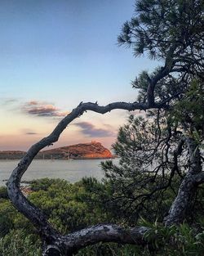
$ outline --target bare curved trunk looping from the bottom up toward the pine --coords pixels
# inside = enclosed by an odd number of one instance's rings
[[[153,108],[158,106],[154,105]],[[73,109],[69,115],[60,121],[55,127],[53,132],[48,137],[44,137],[41,141],[30,147],[26,155],[20,160],[18,166],[13,170],[11,177],[7,182],[8,195],[15,205],[16,209],[23,213],[25,217],[29,218],[33,224],[38,227],[38,231],[44,240],[46,245],[44,248],[44,255],[53,254],[53,250],[61,255],[61,249],[66,253],[63,255],[69,255],[71,251],[80,249],[86,245],[92,245],[99,241],[117,241],[119,243],[139,243],[143,244],[144,227],[135,227],[124,229],[115,225],[99,225],[85,230],[78,231],[68,236],[61,236],[50,223],[47,222],[44,214],[35,205],[29,202],[22,192],[20,191],[20,179],[24,172],[29,167],[29,164],[33,161],[35,155],[38,154],[45,146],[50,146],[55,141],[58,141],[61,132],[70,124],[74,119],[81,116],[86,110],[91,110],[100,114],[105,114],[111,110],[146,110],[149,106],[144,103],[126,103],[126,102],[114,102],[107,106],[98,106],[97,103],[80,103],[75,109]],[[97,236],[96,236],[97,235]],[[54,247],[53,247],[54,246]],[[64,248],[65,246],[65,248]],[[69,253],[67,251],[69,250]],[[51,254],[49,252],[51,252]]]

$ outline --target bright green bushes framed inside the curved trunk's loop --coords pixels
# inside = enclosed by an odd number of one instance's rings
[[[99,200],[96,200],[98,195],[91,192],[97,187],[102,193],[104,188],[94,178],[83,179],[74,185],[60,179],[42,179],[42,183],[37,180],[33,184],[38,186],[29,195],[29,200],[42,209],[49,222],[64,234],[109,220],[109,213],[101,212]]]

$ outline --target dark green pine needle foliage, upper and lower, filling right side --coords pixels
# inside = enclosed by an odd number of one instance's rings
[[[118,37],[135,56],[145,54],[160,63],[132,82],[137,102],[148,102],[157,110],[131,115],[113,144],[119,165],[102,164],[113,191],[110,205],[126,221],[140,214],[147,219],[159,215],[161,221],[186,173],[193,173],[195,163],[194,173],[202,171],[203,10],[199,0],[135,1],[135,13]],[[193,200],[188,200],[188,220],[193,207]]]

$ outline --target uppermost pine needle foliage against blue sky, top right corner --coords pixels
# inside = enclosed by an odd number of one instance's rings
[[[199,0],[136,1],[135,15],[123,25],[118,42],[133,47],[135,56],[147,52],[161,60],[174,50],[178,59],[187,54],[194,59],[194,52],[203,50],[202,11]]]

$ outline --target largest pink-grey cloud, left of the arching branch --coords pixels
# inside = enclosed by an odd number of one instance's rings
[[[29,101],[24,104],[22,110],[29,115],[46,117],[64,117],[68,112],[63,112],[53,104],[42,101]]]

